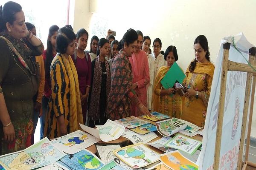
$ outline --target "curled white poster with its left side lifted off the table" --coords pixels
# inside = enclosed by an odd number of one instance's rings
[[[94,129],[80,124],[81,128],[95,137],[99,137],[103,142],[110,142],[118,139],[125,131],[125,127],[109,120],[101,127]]]

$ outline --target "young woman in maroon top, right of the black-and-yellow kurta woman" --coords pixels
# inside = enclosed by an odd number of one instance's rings
[[[84,28],[81,28],[79,31],[77,31],[76,33],[77,47],[74,55],[72,56],[72,59],[76,66],[77,75],[78,75],[84,124],[86,121],[87,98],[90,90],[91,74],[92,74],[92,71],[91,71],[92,65],[91,65],[90,55],[84,51],[87,46],[87,40],[88,40],[88,32]]]

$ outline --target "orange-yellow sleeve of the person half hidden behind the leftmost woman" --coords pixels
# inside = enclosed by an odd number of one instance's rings
[[[44,59],[43,56],[36,56],[35,57],[36,62],[39,63],[39,68],[40,68],[40,84],[39,84],[39,88],[38,88],[38,96],[36,101],[41,103],[42,100],[42,96],[44,93],[44,81],[45,81],[45,75],[44,75]]]

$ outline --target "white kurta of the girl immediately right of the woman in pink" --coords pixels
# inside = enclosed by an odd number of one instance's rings
[[[148,67],[149,67],[149,76],[150,76],[150,83],[148,85],[147,90],[147,99],[148,99],[148,109],[151,110],[151,101],[152,101],[152,90],[153,90],[153,80],[154,80],[154,57],[152,54],[148,54]]]

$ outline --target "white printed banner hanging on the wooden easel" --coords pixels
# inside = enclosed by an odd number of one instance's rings
[[[226,42],[231,43],[229,60],[247,63],[239,51],[233,47],[233,38],[237,48],[247,59],[249,58],[249,49],[253,47],[242,33],[236,36],[225,37],[221,40],[220,50],[216,60],[217,62],[215,63],[211,95],[209,98],[204,126],[205,134],[203,137],[203,146],[199,162],[200,170],[213,169],[218,119],[218,102],[221,88],[221,67],[224,51],[223,44]],[[244,72],[228,71],[227,74],[219,170],[235,170],[237,166],[246,78],[247,73]]]

